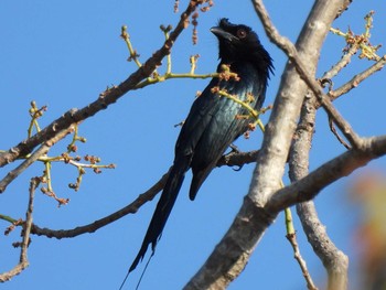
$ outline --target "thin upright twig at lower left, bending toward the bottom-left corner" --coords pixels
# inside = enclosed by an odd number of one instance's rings
[[[30,245],[30,233],[31,233],[31,226],[32,226],[32,212],[33,212],[33,198],[35,194],[35,190],[39,185],[39,178],[33,178],[31,179],[30,182],[30,198],[29,198],[29,205],[28,210],[25,213],[25,223],[23,225],[23,239],[22,241],[17,246],[20,246],[20,260],[19,264],[11,269],[8,272],[3,272],[0,275],[0,282],[6,282],[9,281],[12,277],[21,273],[28,266],[29,266],[29,260],[26,257],[26,248]]]

